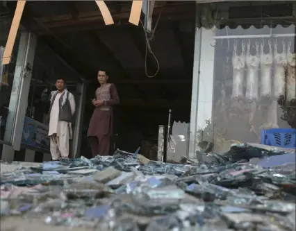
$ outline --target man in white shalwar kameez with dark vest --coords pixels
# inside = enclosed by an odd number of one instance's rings
[[[49,137],[52,160],[69,157],[69,139],[72,139],[72,117],[75,100],[65,88],[65,79],[56,80],[56,91],[51,92],[49,108]]]

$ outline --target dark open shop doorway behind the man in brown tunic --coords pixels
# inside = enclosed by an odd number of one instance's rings
[[[47,2],[49,8],[54,4],[62,3]],[[36,7],[29,5],[32,10]],[[109,81],[117,87],[121,100],[115,108],[112,148],[133,152],[138,146],[154,146],[151,158],[156,158],[158,128],[167,125],[169,110],[171,123],[190,121],[195,2],[167,2],[163,9],[156,6],[149,34],[141,23],[127,23],[128,17],[115,20],[116,25],[112,26],[101,26],[97,21],[79,22],[77,17],[90,15],[92,2],[72,1],[69,5],[76,9],[72,23],[40,17],[36,33],[39,42],[88,80],[81,154],[90,153],[85,139],[94,109],[90,99],[98,87],[97,71],[101,68],[108,70]],[[131,2],[111,5],[110,8],[116,5],[127,12]],[[71,76],[69,80],[75,81]]]

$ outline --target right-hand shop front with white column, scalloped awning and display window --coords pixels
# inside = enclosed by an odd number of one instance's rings
[[[197,5],[190,157],[211,144],[295,148],[295,3],[239,1]],[[285,141],[283,141],[285,140]]]

